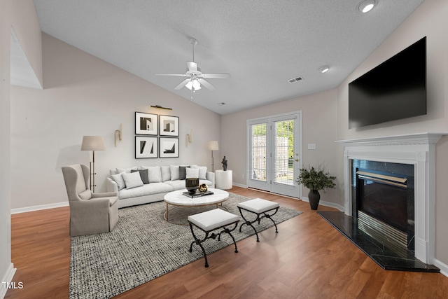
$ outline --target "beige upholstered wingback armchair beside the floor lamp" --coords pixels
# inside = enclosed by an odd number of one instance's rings
[[[85,165],[62,167],[70,204],[70,235],[111,232],[118,222],[118,193],[92,193]]]

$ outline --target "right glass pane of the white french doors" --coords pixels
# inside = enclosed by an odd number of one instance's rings
[[[274,127],[274,182],[294,185],[294,120],[276,121]]]

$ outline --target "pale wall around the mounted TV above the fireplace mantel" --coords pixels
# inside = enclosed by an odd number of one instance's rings
[[[353,71],[337,90],[337,138],[358,139],[420,132],[448,132],[448,1],[426,0],[391,36]],[[396,120],[381,125],[351,129],[348,127],[348,84],[358,76],[427,36],[427,108],[426,116]],[[412,62],[409,62],[412,63]],[[448,264],[447,180],[448,137],[436,145],[436,248],[435,258]],[[343,165],[341,165],[342,167]]]

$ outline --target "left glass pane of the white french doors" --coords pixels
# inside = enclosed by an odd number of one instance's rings
[[[251,125],[251,179],[266,181],[266,127],[260,123]]]

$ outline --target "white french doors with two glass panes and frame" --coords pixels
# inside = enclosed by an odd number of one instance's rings
[[[300,197],[301,112],[248,120],[247,186]]]

